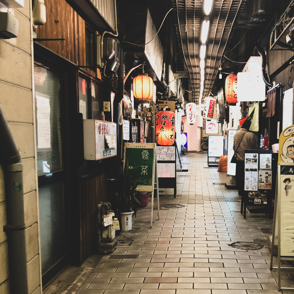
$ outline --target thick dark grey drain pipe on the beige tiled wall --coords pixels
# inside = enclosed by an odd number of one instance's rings
[[[10,294],[28,294],[21,155],[0,106],[0,157],[4,163]]]

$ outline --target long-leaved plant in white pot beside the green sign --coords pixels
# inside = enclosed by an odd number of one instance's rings
[[[119,210],[121,213],[121,224],[122,230],[128,231],[132,229],[133,215],[136,217],[137,206],[136,204],[140,202],[135,196],[136,188],[138,183],[134,179],[134,173],[139,167],[129,167],[128,161],[125,166],[121,162],[119,173],[119,193],[118,202]]]

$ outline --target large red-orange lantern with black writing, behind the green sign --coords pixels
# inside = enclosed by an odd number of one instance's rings
[[[173,111],[158,111],[156,115],[156,142],[170,146],[175,142],[176,118]]]

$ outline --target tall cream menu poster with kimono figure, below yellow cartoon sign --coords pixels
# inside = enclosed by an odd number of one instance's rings
[[[293,166],[281,166],[280,222],[281,256],[294,256],[294,175]]]

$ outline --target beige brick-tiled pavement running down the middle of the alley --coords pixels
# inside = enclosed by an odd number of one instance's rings
[[[206,156],[181,156],[188,172],[177,175],[175,199],[173,189],[161,193],[160,220],[150,228],[150,204],[139,210],[133,230],[117,237],[125,243],[103,256],[74,293],[294,293],[279,292],[277,270],[269,269],[268,234],[261,228],[272,228],[272,220],[258,213],[248,213],[244,220],[237,191],[219,185],[229,177],[207,168]],[[172,203],[185,207],[164,208]],[[156,214],[155,202],[154,217]],[[264,247],[242,250],[229,246],[236,241]],[[294,278],[294,271],[283,271],[283,287],[294,287],[290,277]]]

